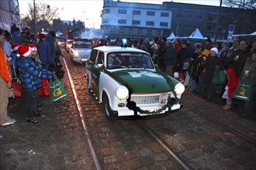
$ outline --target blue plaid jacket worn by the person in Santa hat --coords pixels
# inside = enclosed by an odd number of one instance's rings
[[[16,58],[16,63],[19,68],[19,77],[25,91],[37,90],[39,87],[43,86],[41,79],[52,79],[54,76],[54,73],[37,66],[29,57],[20,56]]]

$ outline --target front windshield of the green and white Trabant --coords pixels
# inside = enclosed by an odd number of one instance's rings
[[[154,69],[150,56],[145,53],[109,53],[107,69],[147,68]]]

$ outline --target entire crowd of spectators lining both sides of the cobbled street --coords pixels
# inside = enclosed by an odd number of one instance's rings
[[[37,35],[36,35],[37,36]],[[56,33],[37,36],[25,27],[13,25],[10,32],[0,29],[0,124],[15,123],[7,114],[9,91],[12,83],[22,84],[26,101],[26,121],[36,124],[40,116],[40,103],[37,89],[42,87],[41,79],[52,79],[60,68],[60,46],[57,46]],[[154,64],[164,73],[175,77],[185,84],[186,90],[199,93],[207,100],[213,100],[215,93],[228,89],[227,104],[223,110],[232,107],[232,96],[238,83],[246,79],[250,82],[250,100],[244,101],[241,117],[253,115],[256,97],[256,49],[251,48],[247,40],[234,37],[233,44],[228,42],[212,43],[211,39],[194,43],[192,39],[174,39],[156,36],[149,39],[92,39],[93,46],[127,46],[142,49],[150,53]],[[224,84],[213,83],[216,71],[227,76]],[[63,72],[58,72],[63,76]],[[255,116],[255,115],[253,115]]]

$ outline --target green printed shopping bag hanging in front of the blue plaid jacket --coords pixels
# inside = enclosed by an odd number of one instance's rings
[[[61,80],[57,79],[57,76],[54,74],[54,80],[49,81],[50,89],[50,103],[54,103],[57,100],[62,100],[67,97],[67,91],[61,83]]]

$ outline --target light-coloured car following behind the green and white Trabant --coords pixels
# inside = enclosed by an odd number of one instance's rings
[[[91,51],[92,43],[89,39],[74,39],[69,53],[74,62],[85,63]]]

